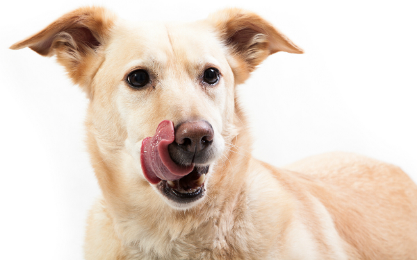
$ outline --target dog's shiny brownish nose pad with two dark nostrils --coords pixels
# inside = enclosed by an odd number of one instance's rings
[[[213,128],[206,121],[181,123],[175,131],[175,142],[186,152],[199,153],[213,143]]]

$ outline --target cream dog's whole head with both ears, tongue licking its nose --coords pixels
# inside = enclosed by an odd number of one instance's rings
[[[11,49],[26,46],[56,55],[90,98],[88,144],[106,198],[175,208],[196,205],[224,179],[212,175],[242,126],[236,85],[272,53],[302,53],[239,9],[133,24],[80,8]]]

